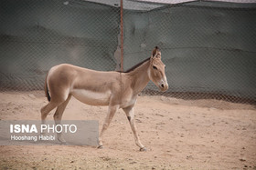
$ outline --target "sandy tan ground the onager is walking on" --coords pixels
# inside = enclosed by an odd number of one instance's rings
[[[38,120],[43,92],[0,93],[1,120]],[[72,98],[63,119],[99,120],[107,107]],[[48,115],[52,120],[53,112]],[[255,105],[140,96],[135,120],[146,152],[134,145],[123,110],[104,148],[73,145],[0,146],[0,169],[256,169]]]

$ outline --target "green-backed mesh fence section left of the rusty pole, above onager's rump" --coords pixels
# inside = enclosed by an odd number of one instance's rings
[[[1,89],[43,89],[48,69],[62,63],[114,70],[119,11],[85,1],[1,1]]]

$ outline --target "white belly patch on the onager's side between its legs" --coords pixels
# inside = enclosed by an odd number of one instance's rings
[[[87,105],[109,105],[111,91],[101,93],[84,89],[73,89],[71,95]]]

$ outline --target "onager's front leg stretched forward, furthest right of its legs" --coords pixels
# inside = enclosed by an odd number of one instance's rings
[[[125,114],[128,118],[128,121],[131,125],[133,135],[134,135],[134,139],[135,139],[135,144],[140,147],[140,151],[146,151],[146,148],[144,147],[144,145],[142,145],[142,143],[139,139],[139,136],[137,134],[137,128],[136,128],[136,125],[134,124],[133,106],[123,108],[123,111],[125,112]]]

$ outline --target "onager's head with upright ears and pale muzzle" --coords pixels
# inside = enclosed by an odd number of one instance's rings
[[[165,92],[168,89],[168,83],[165,76],[165,65],[161,60],[161,52],[157,46],[155,46],[150,57],[148,72],[150,80],[154,82],[162,92]]]

